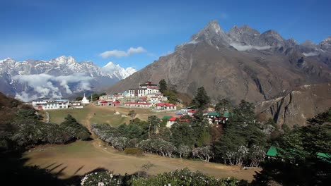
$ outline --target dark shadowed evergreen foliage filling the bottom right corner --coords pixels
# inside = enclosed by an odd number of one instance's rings
[[[254,184],[329,185],[331,181],[330,109],[308,120],[310,125],[294,128],[281,135],[274,144],[277,158],[262,164]],[[327,154],[325,158],[318,153]]]

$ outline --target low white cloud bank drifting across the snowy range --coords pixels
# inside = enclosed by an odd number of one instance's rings
[[[16,98],[21,99],[22,101],[30,101],[37,97],[60,98],[62,97],[62,90],[64,90],[66,94],[71,94],[73,88],[69,87],[69,83],[76,83],[74,87],[76,91],[91,89],[90,81],[92,79],[93,77],[84,76],[81,73],[66,76],[39,74],[16,75],[13,77],[13,80],[28,85],[28,87],[32,88],[34,91],[33,95],[29,95],[27,92],[16,94]],[[63,89],[61,90],[59,87],[63,87]]]

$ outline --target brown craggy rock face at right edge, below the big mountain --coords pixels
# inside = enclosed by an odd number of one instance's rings
[[[331,83],[303,85],[284,97],[262,101],[255,107],[260,118],[273,118],[277,125],[306,125],[308,118],[331,107]]]

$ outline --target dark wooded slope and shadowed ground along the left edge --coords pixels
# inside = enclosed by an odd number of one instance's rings
[[[66,144],[88,140],[88,130],[72,116],[61,124],[44,123],[42,115],[21,101],[0,92],[0,174],[10,185],[66,185],[73,180],[59,180],[38,166],[25,166],[22,153],[38,144]],[[79,179],[79,178],[72,178]]]

